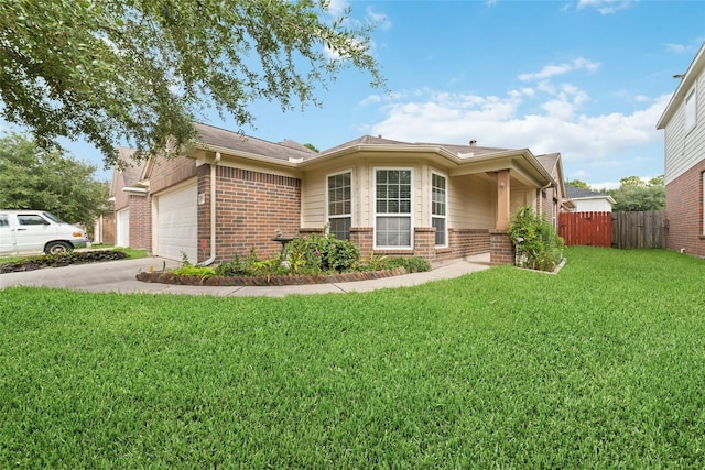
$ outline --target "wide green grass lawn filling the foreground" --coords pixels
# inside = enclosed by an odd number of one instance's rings
[[[705,263],[286,298],[0,292],[0,468],[705,466]]]

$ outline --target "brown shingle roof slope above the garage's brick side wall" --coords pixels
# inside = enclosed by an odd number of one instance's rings
[[[314,151],[291,140],[286,140],[282,143],[273,143],[197,122],[194,123],[194,127],[200,135],[202,142],[206,145],[284,161],[288,161],[289,159],[306,159],[316,155]]]

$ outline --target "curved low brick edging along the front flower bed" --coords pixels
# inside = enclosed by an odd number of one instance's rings
[[[321,275],[275,275],[275,276],[186,276],[170,272],[141,272],[135,276],[138,281],[147,283],[206,286],[273,286],[273,285],[304,285],[332,284],[340,282],[369,281],[406,274],[404,267],[384,271],[366,271],[343,274]]]

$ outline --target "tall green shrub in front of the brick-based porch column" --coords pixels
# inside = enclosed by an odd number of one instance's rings
[[[564,241],[531,206],[512,215],[509,237],[517,250],[518,265],[532,270],[553,271],[563,259]]]

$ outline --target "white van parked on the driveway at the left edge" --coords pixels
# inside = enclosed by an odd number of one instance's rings
[[[86,231],[44,210],[0,210],[0,254],[67,253],[89,247]]]

